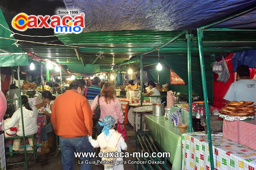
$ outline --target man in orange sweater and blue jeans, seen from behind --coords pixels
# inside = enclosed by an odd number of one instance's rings
[[[52,107],[52,126],[60,136],[61,164],[63,170],[74,169],[74,152],[93,152],[87,135],[92,135],[92,110],[83,96],[85,82],[75,79],[70,90],[59,95]],[[80,157],[81,161],[93,158]],[[81,169],[92,169],[92,164],[81,164]]]

